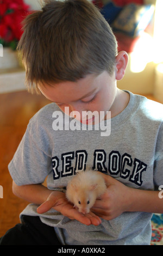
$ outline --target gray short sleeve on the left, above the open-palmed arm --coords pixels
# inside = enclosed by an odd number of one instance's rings
[[[40,121],[30,120],[26,133],[9,163],[9,172],[18,186],[41,184],[51,172],[49,136]]]

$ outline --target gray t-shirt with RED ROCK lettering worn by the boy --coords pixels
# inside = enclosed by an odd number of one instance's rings
[[[68,129],[68,117],[55,103],[40,109],[9,163],[15,183],[41,184],[47,176],[49,190],[58,190],[77,170],[93,169],[129,187],[158,190],[163,185],[163,105],[128,93],[127,107],[111,118],[109,136],[101,136],[100,129],[85,130],[79,122],[74,131]],[[59,130],[54,129],[56,120]],[[53,209],[39,215],[37,206],[29,204],[21,215],[40,216],[55,228],[63,245],[149,245],[151,241],[151,213],[124,212],[114,220],[87,226]]]

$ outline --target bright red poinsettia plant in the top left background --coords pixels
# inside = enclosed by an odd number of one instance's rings
[[[29,14],[23,0],[0,0],[0,44],[16,49],[22,31],[22,21]]]

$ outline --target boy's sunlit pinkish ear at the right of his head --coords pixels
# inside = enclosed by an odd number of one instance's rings
[[[121,80],[124,76],[128,63],[128,54],[125,51],[121,51],[116,56],[116,80]]]

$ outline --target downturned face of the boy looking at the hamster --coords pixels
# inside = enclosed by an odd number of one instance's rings
[[[77,82],[51,83],[39,89],[47,99],[57,103],[65,112],[69,107],[69,113],[78,111],[81,117],[79,121],[84,124],[93,123],[93,118],[82,118],[82,111],[114,111],[117,94],[115,73],[110,76],[104,71],[100,75],[87,75]],[[111,112],[112,113],[112,112]],[[112,115],[112,114],[111,114]],[[76,119],[78,119],[76,116]]]

